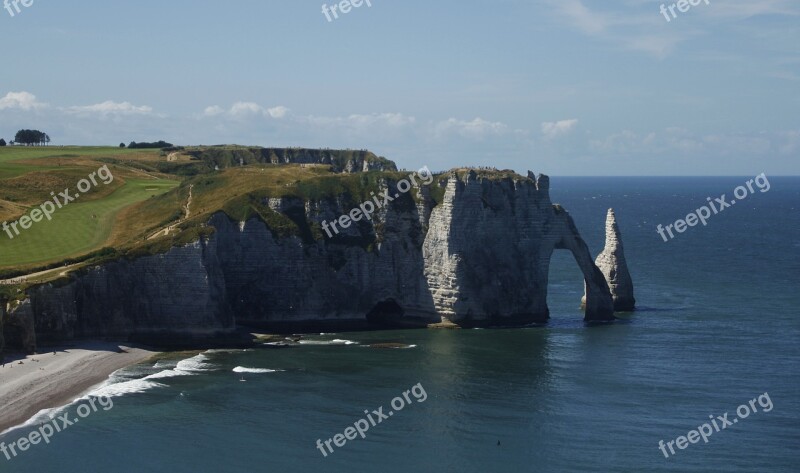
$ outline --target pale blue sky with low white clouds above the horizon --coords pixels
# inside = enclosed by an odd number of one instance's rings
[[[10,4],[0,137],[800,175],[800,1],[693,1],[363,0],[338,18],[320,0]]]

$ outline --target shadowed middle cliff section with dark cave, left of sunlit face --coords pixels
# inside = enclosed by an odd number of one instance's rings
[[[372,219],[337,227],[331,237],[320,233],[316,240],[304,239],[302,230],[319,230],[320,222],[350,213],[356,196],[272,199],[271,211],[292,220],[298,234],[279,235],[269,219],[251,217],[239,224],[215,214],[209,222],[216,229],[210,246],[237,325],[315,332],[438,322],[422,251],[422,214],[433,203],[417,203],[392,181],[383,185],[399,197]]]

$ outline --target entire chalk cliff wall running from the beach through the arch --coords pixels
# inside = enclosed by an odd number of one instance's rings
[[[383,186],[389,195],[402,194],[392,181]],[[12,316],[33,320],[36,335],[47,341],[196,340],[241,325],[520,325],[548,319],[550,258],[566,249],[584,275],[585,319],[613,319],[606,277],[572,218],[551,203],[544,175],[451,172],[333,238],[314,239],[310,229],[350,212],[352,203],[342,196],[267,204],[295,222],[297,234],[281,236],[261,219],[238,222],[217,213],[208,239],[33,288]],[[614,281],[619,287],[619,278]]]

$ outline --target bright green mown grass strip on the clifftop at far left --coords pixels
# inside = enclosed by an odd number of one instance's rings
[[[27,230],[20,230],[20,235],[15,235],[14,239],[2,232],[0,268],[61,260],[96,250],[111,235],[121,210],[153,195],[168,192],[178,184],[165,179],[129,178],[124,186],[108,197],[85,203],[73,202],[57,210],[51,221],[44,219]]]

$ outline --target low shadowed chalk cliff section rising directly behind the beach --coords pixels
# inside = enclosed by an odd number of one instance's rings
[[[198,241],[165,254],[97,266],[66,283],[34,287],[11,312],[12,319],[23,328],[32,321],[38,343],[122,338],[188,345],[222,335],[234,321],[215,249]]]

